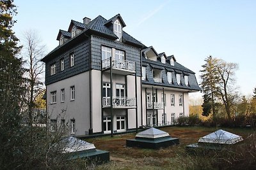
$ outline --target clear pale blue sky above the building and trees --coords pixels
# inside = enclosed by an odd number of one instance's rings
[[[98,15],[109,19],[120,13],[124,30],[158,53],[174,55],[177,62],[195,71],[200,83],[204,59],[212,55],[236,62],[237,86],[244,95],[256,87],[256,1],[26,1],[17,0],[18,38],[22,31],[35,29],[47,46],[58,46],[59,29],[67,30],[70,20]]]

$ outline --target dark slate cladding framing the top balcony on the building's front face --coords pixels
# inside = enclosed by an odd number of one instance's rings
[[[125,59],[136,62],[136,76],[141,76],[140,69],[140,48],[134,46],[125,45],[118,41],[112,41],[106,38],[100,38],[98,36],[91,36],[92,45],[92,69],[101,69],[101,46],[108,46],[110,48],[116,48],[118,50],[125,51]]]

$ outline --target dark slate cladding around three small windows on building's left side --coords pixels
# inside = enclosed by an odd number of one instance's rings
[[[74,53],[74,66],[70,67],[70,53]],[[85,39],[83,42],[68,49],[67,51],[52,57],[45,64],[45,84],[49,85],[56,81],[63,80],[70,76],[74,76],[84,71],[89,70],[89,40]],[[64,70],[61,71],[60,60],[64,59]],[[51,65],[56,64],[56,74],[51,75]]]

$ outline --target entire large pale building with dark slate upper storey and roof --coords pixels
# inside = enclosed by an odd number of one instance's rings
[[[124,27],[119,14],[99,15],[59,31],[60,45],[42,59],[52,131],[113,135],[189,115],[188,93],[200,90],[195,73]]]

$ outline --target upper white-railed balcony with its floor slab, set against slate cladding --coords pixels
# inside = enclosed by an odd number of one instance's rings
[[[107,72],[109,71],[110,68],[110,60],[109,59],[105,59],[102,60],[102,70],[107,70]],[[113,73],[114,74],[123,74],[123,75],[128,75],[128,74],[132,74],[135,73],[135,62],[131,62],[128,60],[116,60],[116,59],[112,59],[112,68],[113,68]]]

